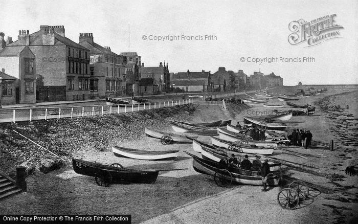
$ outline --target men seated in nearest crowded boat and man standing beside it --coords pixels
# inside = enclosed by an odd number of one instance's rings
[[[219,163],[226,165],[230,167],[230,170],[232,171],[234,167],[241,166],[241,169],[244,170],[254,170],[254,171],[260,171],[261,174],[261,180],[263,189],[262,191],[267,191],[267,175],[270,173],[270,165],[269,160],[266,158],[263,163],[260,161],[260,156],[256,156],[256,160],[254,160],[252,163],[249,160],[249,156],[245,155],[243,161],[238,161],[235,154],[231,154],[231,157],[229,160],[227,159],[221,159]]]

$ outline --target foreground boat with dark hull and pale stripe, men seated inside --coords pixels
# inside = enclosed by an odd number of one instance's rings
[[[241,168],[230,168],[227,165],[210,160],[204,160],[191,153],[186,153],[193,157],[193,168],[199,173],[214,176],[218,170],[226,169],[229,170],[231,174],[231,176],[228,176],[227,178],[230,179],[230,181],[232,180],[233,183],[262,186],[262,180],[259,171],[243,170]],[[267,178],[267,185],[276,186],[279,184],[279,181],[279,176],[270,175],[270,177]]]

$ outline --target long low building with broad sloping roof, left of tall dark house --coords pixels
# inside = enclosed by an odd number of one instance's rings
[[[185,92],[208,92],[211,74],[209,72],[178,72],[171,74],[170,83]]]

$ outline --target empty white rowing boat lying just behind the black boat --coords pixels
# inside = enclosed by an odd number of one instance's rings
[[[124,148],[120,146],[112,146],[112,151],[116,156],[127,157],[137,160],[166,160],[177,158],[179,150],[169,151],[142,151]]]

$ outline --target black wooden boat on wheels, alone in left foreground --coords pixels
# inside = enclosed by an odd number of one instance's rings
[[[78,174],[95,176],[96,183],[145,183],[152,184],[158,177],[158,170],[134,170],[120,164],[104,165],[72,158],[72,167]],[[101,184],[102,183],[102,184]]]

